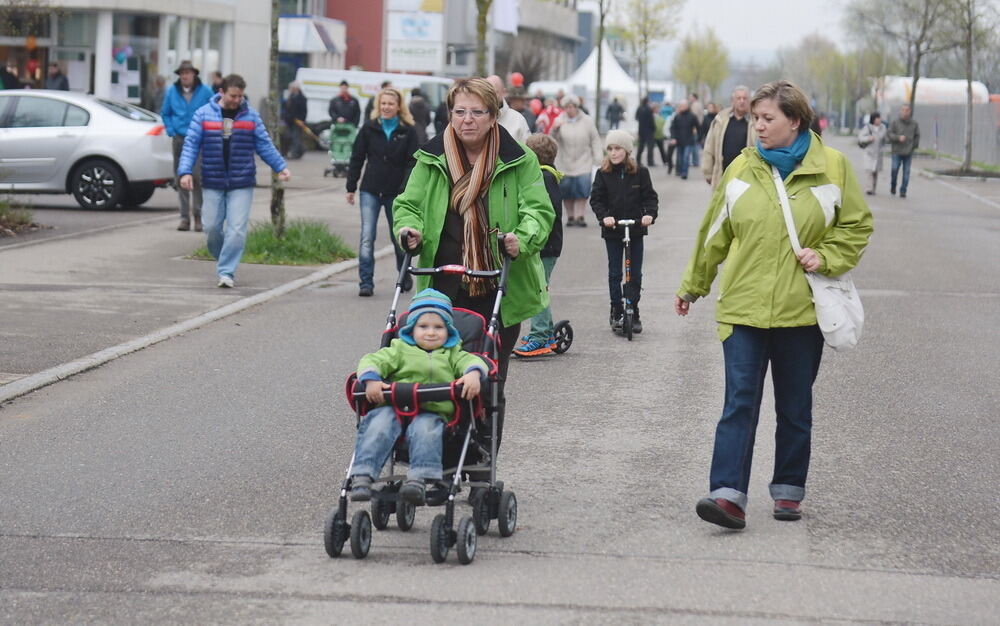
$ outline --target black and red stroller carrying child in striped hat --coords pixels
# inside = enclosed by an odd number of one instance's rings
[[[499,248],[504,249],[502,243]],[[457,274],[498,279],[499,288],[488,324],[474,311],[462,308],[453,310],[454,324],[462,336],[463,349],[482,357],[490,368],[489,380],[475,401],[455,400],[461,398],[462,391],[462,386],[457,381],[430,385],[396,383],[392,385],[392,389],[384,392],[385,402],[404,417],[416,414],[421,402],[453,400],[460,407],[455,418],[445,428],[442,451],[444,476],[436,484],[428,485],[426,506],[445,507],[445,512],[435,516],[431,523],[431,558],[435,563],[443,563],[448,557],[448,551],[457,544],[459,562],[468,565],[476,556],[477,536],[489,531],[491,520],[497,520],[501,537],[513,535],[517,527],[517,498],[513,491],[504,489],[502,481],[496,479],[499,311],[500,300],[507,289],[511,259],[505,254],[502,269],[491,271],[475,271],[461,265],[414,268],[410,267],[410,260],[411,256],[407,251],[396,280],[396,291],[386,318],[386,328],[382,333],[383,347],[389,345],[397,331],[406,324],[407,313],[403,312],[397,319],[396,308],[407,273],[415,276]],[[369,406],[365,399],[364,385],[358,383],[356,374],[348,378],[346,391],[348,403],[354,409],[360,424]],[[486,400],[485,405],[483,399]],[[486,414],[489,415],[488,422],[485,420]],[[390,455],[388,475],[382,475],[374,481],[374,486],[381,488],[372,490],[371,513],[359,509],[348,524],[348,495],[352,488],[351,467],[354,465],[352,455],[347,475],[340,486],[340,499],[327,516],[323,529],[324,545],[331,558],[340,555],[348,540],[351,542],[351,554],[357,559],[365,558],[371,548],[372,527],[377,530],[386,529],[389,517],[393,514],[396,515],[396,525],[400,530],[408,531],[413,527],[416,507],[399,498],[399,488],[406,480],[406,472],[397,471],[397,465],[404,465],[407,460],[405,437],[401,437]],[[472,507],[472,516],[462,516],[456,527],[455,498],[463,485],[469,488],[468,503]]]

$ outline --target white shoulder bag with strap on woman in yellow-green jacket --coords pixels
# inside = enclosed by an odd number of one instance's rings
[[[778,168],[771,166],[774,187],[781,201],[781,211],[785,214],[785,226],[788,228],[788,239],[796,256],[802,251],[799,245],[798,231],[795,220],[792,219],[792,208],[788,204],[788,193],[785,183],[781,180]],[[861,297],[854,287],[854,279],[850,272],[840,276],[824,276],[815,272],[806,272],[806,280],[813,292],[813,304],[816,305],[816,321],[823,333],[826,345],[834,350],[850,350],[858,345],[861,331],[865,326],[865,310],[861,306]]]

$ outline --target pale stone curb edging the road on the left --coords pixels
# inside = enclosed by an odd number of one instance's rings
[[[380,259],[391,254],[393,254],[393,247],[392,245],[388,245],[376,251],[375,258]],[[138,352],[143,348],[148,348],[149,346],[160,343],[161,341],[182,335],[188,331],[195,330],[196,328],[201,328],[211,322],[249,309],[252,306],[268,302],[269,300],[274,300],[275,298],[314,283],[318,283],[321,280],[325,280],[335,274],[345,272],[357,266],[358,260],[356,258],[341,261],[340,263],[335,263],[329,267],[317,270],[308,276],[303,276],[302,278],[287,282],[283,285],[278,285],[273,289],[269,289],[255,296],[249,296],[247,298],[237,300],[236,302],[231,302],[225,306],[219,307],[218,309],[207,313],[202,313],[201,315],[193,317],[189,320],[178,322],[172,326],[167,326],[166,328],[153,331],[143,337],[138,337],[136,339],[126,341],[125,343],[120,343],[117,346],[105,348],[104,350],[100,350],[98,352],[94,352],[93,354],[88,354],[85,357],[70,361],[69,363],[63,363],[62,365],[57,365],[55,367],[50,367],[47,370],[30,374],[24,378],[19,378],[12,383],[0,385],[0,407],[14,398],[31,393],[41,389],[42,387],[47,387],[48,385],[65,380],[70,376],[74,376],[81,372],[94,369],[95,367],[104,365],[105,363],[113,361],[119,357],[123,357],[126,354]]]

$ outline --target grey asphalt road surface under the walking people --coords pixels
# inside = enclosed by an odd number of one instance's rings
[[[5,405],[0,622],[995,623],[1000,205],[965,192],[998,187],[873,199],[866,336],[824,355],[805,518],[770,517],[765,399],[731,533],[694,514],[722,404],[711,302],[670,310],[708,187],[654,182],[636,341],[606,327],[597,229],[567,230],[552,292],[576,340],[512,364],[518,532],[494,524],[472,565],[431,562],[427,510],[364,561],[323,551],[384,261],[375,298],[341,275]]]

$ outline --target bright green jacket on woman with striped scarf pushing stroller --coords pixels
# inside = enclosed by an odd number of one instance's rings
[[[402,228],[420,231],[418,267],[433,267],[445,211],[451,196],[451,179],[444,156],[444,139],[438,135],[416,153],[417,164],[410,173],[406,189],[392,205],[393,236],[399,240]],[[510,267],[507,293],[501,301],[504,326],[512,326],[535,315],[549,304],[545,270],[538,253],[548,240],[555,211],[545,191],[538,158],[531,150],[500,129],[500,152],[490,183],[489,226],[504,233],[514,233],[520,242],[520,254]],[[496,241],[490,246],[496,253]],[[429,276],[417,277],[416,290],[430,286]]]

